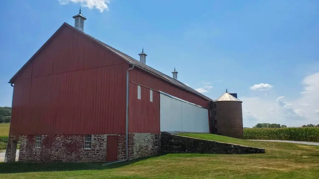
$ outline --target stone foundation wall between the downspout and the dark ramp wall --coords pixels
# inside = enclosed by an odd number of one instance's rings
[[[155,147],[155,133],[129,133],[129,159],[159,154],[160,138],[159,134],[159,145]]]

